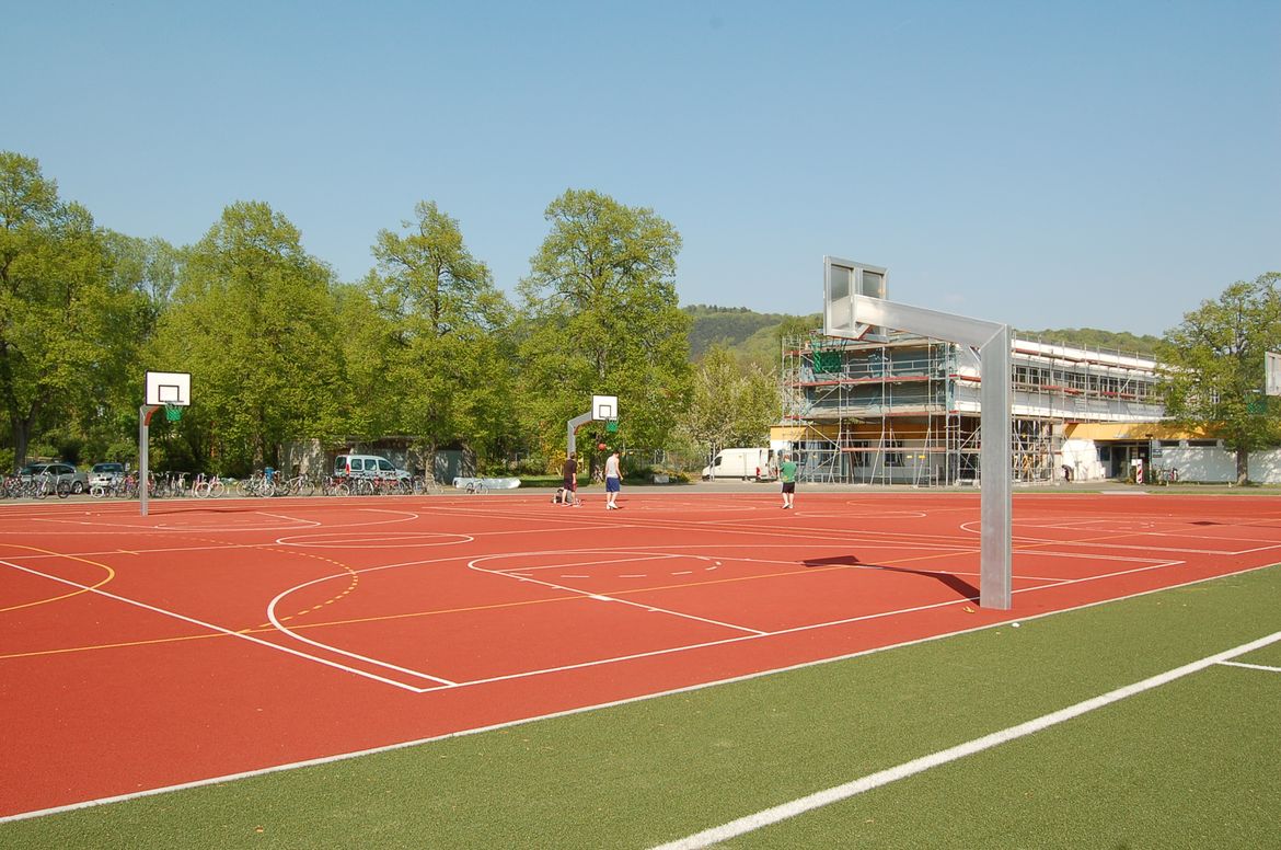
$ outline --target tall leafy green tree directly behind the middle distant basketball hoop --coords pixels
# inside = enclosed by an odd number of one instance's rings
[[[646,208],[569,190],[520,282],[524,413],[555,456],[592,395],[619,396],[632,446],[662,446],[689,395],[689,317],[676,300],[680,235]],[[620,436],[620,438],[623,438]]]

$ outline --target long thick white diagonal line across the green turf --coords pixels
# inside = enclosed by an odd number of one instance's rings
[[[720,841],[726,841],[747,832],[772,826],[780,821],[794,818],[798,814],[804,814],[806,812],[812,812],[813,809],[819,809],[833,803],[848,800],[849,797],[862,794],[863,791],[871,791],[872,788],[879,788],[884,785],[889,785],[890,782],[904,779],[910,776],[929,771],[930,768],[947,764],[948,762],[956,762],[957,759],[962,759],[967,755],[981,753],[983,750],[991,749],[998,744],[1006,744],[1026,735],[1031,735],[1032,732],[1040,732],[1041,729],[1049,728],[1065,721],[1071,721],[1072,718],[1093,712],[1094,709],[1099,709],[1129,696],[1167,685],[1190,673],[1200,672],[1208,667],[1213,667],[1216,664],[1231,664],[1232,662],[1228,659],[1252,653],[1277,641],[1281,641],[1281,632],[1273,632],[1267,637],[1261,637],[1255,641],[1250,641],[1249,644],[1241,644],[1235,649],[1209,655],[1199,662],[1193,662],[1191,664],[1184,664],[1182,667],[1176,667],[1172,671],[1158,673],[1157,676],[1145,678],[1141,682],[1118,687],[1117,690],[1103,694],[1102,696],[1095,696],[1082,703],[1077,703],[1076,705],[1068,705],[1065,709],[1050,712],[1049,714],[1027,721],[1026,723],[1018,723],[1017,726],[1011,726],[1009,728],[993,732],[991,735],[984,735],[983,737],[966,741],[965,744],[958,744],[957,746],[947,750],[939,750],[938,753],[931,753],[930,755],[904,762],[903,764],[885,771],[877,771],[876,773],[854,779],[853,782],[817,791],[808,796],[792,800],[790,803],[784,803],[783,805],[776,805],[774,808],[757,812],[756,814],[730,821],[729,823],[724,823],[719,827],[712,827],[711,829],[705,829],[703,832],[697,832],[692,836],[658,845],[653,847],[653,850],[693,850],[694,847],[707,847]],[[1245,667],[1244,664],[1234,665]]]

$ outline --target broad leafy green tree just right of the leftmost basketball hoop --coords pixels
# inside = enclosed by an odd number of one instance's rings
[[[182,429],[196,463],[279,463],[286,440],[332,440],[348,403],[327,265],[264,203],[237,203],[190,249],[158,335],[156,369],[190,372]]]

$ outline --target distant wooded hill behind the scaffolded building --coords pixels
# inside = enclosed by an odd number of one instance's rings
[[[715,306],[694,304],[681,308],[693,318],[689,329],[689,356],[698,360],[715,344],[724,345],[739,358],[766,367],[779,363],[779,335],[798,333],[822,327],[822,314],[788,315],[784,313],[755,313],[746,306]],[[785,328],[785,329],[784,329]],[[1121,331],[1098,328],[1059,328],[1044,331],[1016,329],[1015,335],[1040,342],[1057,342],[1082,349],[1121,351],[1152,356],[1159,337],[1136,336]]]

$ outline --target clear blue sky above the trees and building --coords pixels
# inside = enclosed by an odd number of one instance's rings
[[[1281,3],[6,3],[0,149],[174,244],[263,200],[342,279],[415,203],[512,290],[566,188],[683,304],[1162,333],[1281,271]]]

